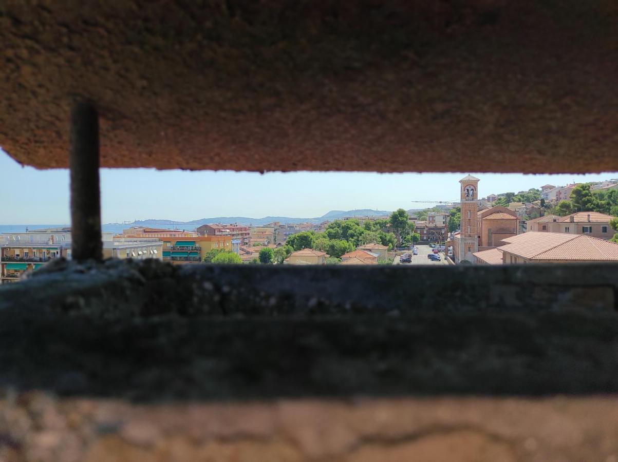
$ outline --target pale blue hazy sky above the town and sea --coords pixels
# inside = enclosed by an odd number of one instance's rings
[[[330,210],[424,208],[413,200],[458,200],[456,174],[266,173],[154,169],[101,170],[103,223],[190,221],[218,216],[319,217]],[[599,175],[476,174],[479,196]],[[69,172],[22,167],[0,149],[0,224],[69,224]]]

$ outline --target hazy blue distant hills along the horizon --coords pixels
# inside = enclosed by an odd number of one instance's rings
[[[253,225],[253,226],[261,226],[267,223],[278,221],[281,224],[288,223],[313,223],[318,224],[323,221],[333,221],[337,219],[342,219],[344,217],[354,217],[354,216],[371,216],[371,217],[383,217],[389,216],[391,212],[386,210],[371,210],[371,209],[357,209],[357,210],[331,210],[325,213],[321,217],[313,217],[313,218],[303,218],[303,217],[262,217],[262,218],[251,218],[251,217],[213,217],[213,218],[201,218],[199,220],[192,221],[173,221],[173,220],[159,220],[159,219],[148,219],[148,220],[138,220],[134,221],[130,224],[125,224],[125,227],[130,226],[184,226],[184,227],[198,227],[201,225],[208,225],[213,223],[238,223],[239,225]],[[109,224],[115,225],[115,224]]]

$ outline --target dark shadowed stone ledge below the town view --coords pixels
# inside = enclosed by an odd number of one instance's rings
[[[615,274],[58,262],[0,288],[0,387],[132,400],[617,392]]]

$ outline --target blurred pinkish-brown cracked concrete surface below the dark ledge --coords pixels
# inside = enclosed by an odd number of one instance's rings
[[[615,397],[129,405],[9,393],[0,460],[614,462],[617,422]]]

